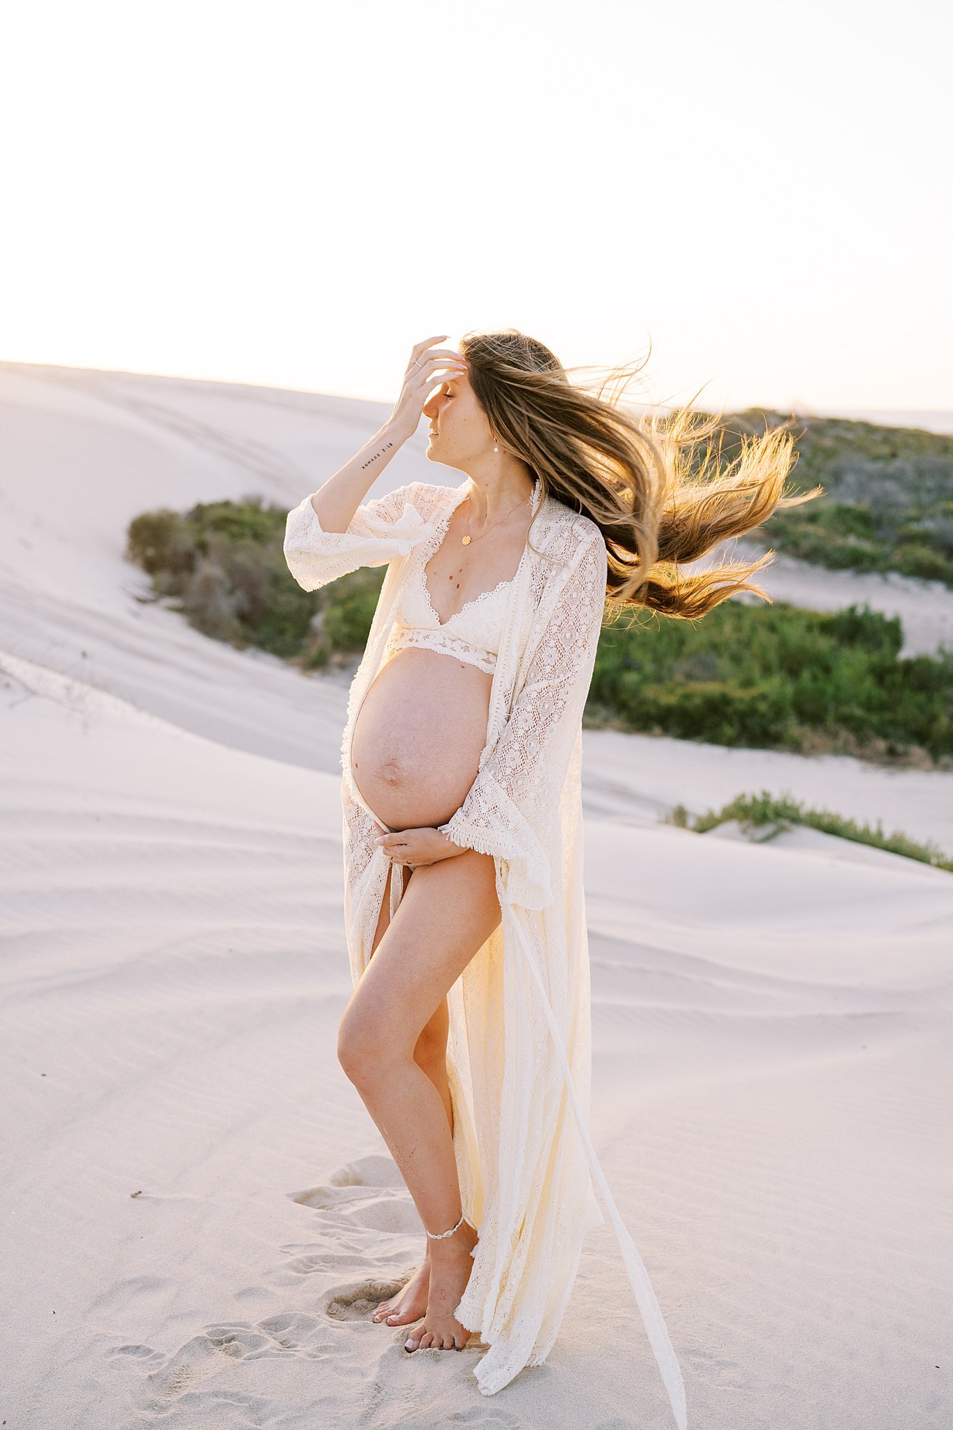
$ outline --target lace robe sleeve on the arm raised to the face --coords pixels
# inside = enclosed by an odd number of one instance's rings
[[[436,506],[439,488],[410,482],[357,508],[346,532],[326,532],[310,495],[289,512],[284,559],[304,591],[317,591],[359,566],[384,566],[407,556]]]

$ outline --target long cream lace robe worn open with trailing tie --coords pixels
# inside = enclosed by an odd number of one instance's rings
[[[366,502],[340,533],[321,529],[310,496],[287,518],[284,555],[306,591],[359,566],[389,566],[341,741],[344,921],[354,984],[370,958],[389,862],[353,794],[351,732],[371,681],[390,658],[410,561],[427,561],[440,546],[469,486],[469,479],[457,488],[411,482]],[[537,482],[529,538],[537,551],[527,543],[510,588],[486,746],[466,799],[440,827],[456,844],[493,857],[502,909],[502,922],[447,995],[454,1151],[463,1210],[480,1236],[454,1314],[489,1346],[476,1366],[484,1394],[502,1390],[523,1366],[542,1364],[576,1280],[583,1238],[604,1223],[594,1181],[676,1424],[684,1430],[679,1363],[587,1130],[580,754],[604,611],[606,543],[594,522],[562,502],[547,496],[539,508]],[[399,898],[397,889],[394,907]]]

